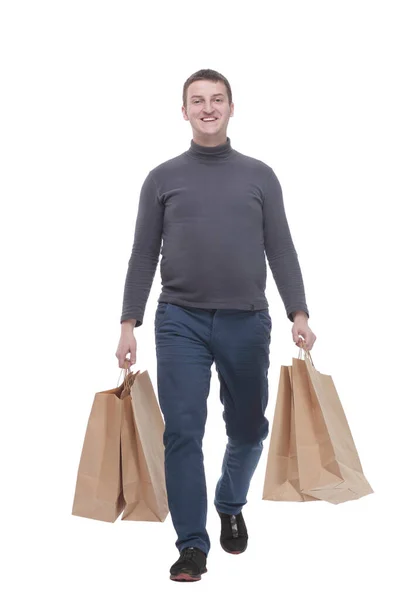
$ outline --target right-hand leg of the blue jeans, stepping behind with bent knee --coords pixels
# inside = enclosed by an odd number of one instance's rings
[[[268,309],[221,309],[215,315],[211,347],[228,443],[214,504],[225,514],[237,515],[247,503],[250,482],[269,431],[264,413],[271,328]]]

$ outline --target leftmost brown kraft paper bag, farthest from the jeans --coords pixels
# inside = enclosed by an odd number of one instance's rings
[[[95,394],[86,428],[72,514],[113,523],[125,501],[121,480],[121,420],[118,388]]]

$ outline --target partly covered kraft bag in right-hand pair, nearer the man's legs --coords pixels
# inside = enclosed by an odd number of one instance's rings
[[[316,500],[300,491],[291,367],[287,366],[281,366],[262,499],[289,502]]]

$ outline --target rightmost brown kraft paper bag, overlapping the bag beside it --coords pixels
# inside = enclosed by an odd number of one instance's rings
[[[332,504],[373,493],[332,377],[307,351],[291,369],[301,492]]]

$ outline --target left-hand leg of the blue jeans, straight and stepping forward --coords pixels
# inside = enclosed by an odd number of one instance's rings
[[[164,415],[165,478],[176,547],[200,548],[207,555],[207,489],[202,441],[207,419],[213,356],[207,332],[211,314],[195,314],[162,303],[155,337],[157,387]]]

